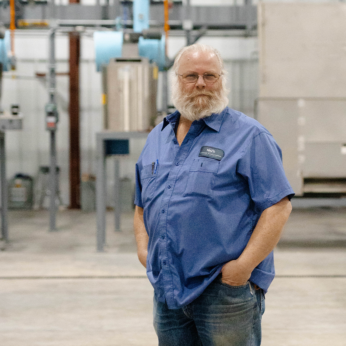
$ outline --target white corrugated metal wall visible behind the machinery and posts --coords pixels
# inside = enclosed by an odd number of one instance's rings
[[[17,30],[15,49],[17,70],[4,72],[1,107],[8,110],[18,103],[24,115],[22,131],[7,131],[7,176],[25,173],[35,176],[38,167],[49,164],[49,134],[45,130],[44,107],[48,99],[45,78],[36,72],[48,71],[48,38],[45,30]],[[68,72],[68,38],[57,34],[57,72]],[[257,60],[231,59],[225,61],[228,70],[230,107],[253,116],[254,99],[258,94]],[[69,78],[57,76],[57,103],[60,121],[57,130],[57,161],[61,168],[62,200],[69,204]],[[81,173],[95,174],[95,133],[102,129],[101,75],[95,71],[91,34],[81,37],[80,60],[80,145]],[[142,141],[143,142],[143,141]],[[120,161],[120,175],[134,178],[134,164],[144,143],[132,143],[131,155]],[[113,163],[108,163],[108,191],[112,188]],[[112,204],[112,194],[108,203]]]

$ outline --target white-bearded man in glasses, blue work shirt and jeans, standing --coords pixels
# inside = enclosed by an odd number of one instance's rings
[[[135,236],[159,345],[257,346],[294,192],[270,133],[227,107],[216,49],[183,48],[173,73],[177,111],[136,164]]]

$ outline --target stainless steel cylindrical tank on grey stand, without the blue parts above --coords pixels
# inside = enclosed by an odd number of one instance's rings
[[[104,67],[104,127],[145,131],[156,118],[158,68],[147,58],[113,58]]]

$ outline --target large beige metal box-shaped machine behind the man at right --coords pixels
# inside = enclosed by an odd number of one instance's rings
[[[258,5],[257,120],[280,145],[296,195],[346,194],[345,11],[344,3]]]

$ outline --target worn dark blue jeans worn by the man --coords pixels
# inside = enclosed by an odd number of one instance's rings
[[[263,290],[251,282],[230,286],[219,275],[190,304],[170,310],[154,295],[159,346],[260,346]]]

